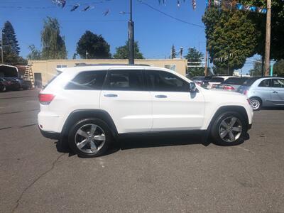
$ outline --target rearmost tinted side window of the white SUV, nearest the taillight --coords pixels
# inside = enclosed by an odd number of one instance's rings
[[[107,71],[84,71],[80,72],[71,82],[67,84],[65,89],[74,90],[93,90],[102,89],[104,77]]]

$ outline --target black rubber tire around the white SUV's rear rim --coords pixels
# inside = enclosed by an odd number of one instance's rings
[[[88,127],[88,125],[92,125],[94,124],[94,126],[99,126],[99,128],[96,127],[96,129],[98,129],[98,131],[101,131],[101,136],[104,135],[104,144],[101,148],[98,148],[97,152],[95,153],[86,153],[86,151],[92,151],[91,150],[91,144],[86,143],[87,148],[82,148],[82,150],[80,148],[77,147],[77,142],[75,140],[77,140],[76,138],[78,137],[77,131],[81,128],[84,128],[84,126],[86,126],[86,128]],[[97,130],[96,130],[97,131]],[[80,137],[80,135],[79,135]],[[82,139],[84,139],[84,136],[82,136]],[[77,155],[79,155],[80,157],[84,157],[84,158],[92,158],[92,157],[97,157],[100,155],[104,155],[104,153],[107,152],[109,145],[111,144],[111,142],[113,141],[113,137],[111,135],[111,131],[109,129],[109,126],[107,125],[107,123],[105,123],[104,121],[100,120],[100,119],[94,119],[94,118],[87,118],[87,119],[81,119],[80,121],[77,121],[76,124],[74,124],[68,134],[68,144],[69,147],[72,149],[72,151],[74,151],[75,153],[77,153]],[[97,143],[97,142],[96,142]],[[94,144],[94,143],[93,143]]]

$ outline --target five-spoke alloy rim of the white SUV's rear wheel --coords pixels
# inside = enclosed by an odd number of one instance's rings
[[[105,142],[104,130],[95,124],[85,124],[75,134],[76,146],[84,153],[97,153]]]

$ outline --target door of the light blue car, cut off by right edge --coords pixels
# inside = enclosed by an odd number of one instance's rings
[[[284,105],[284,79],[272,79],[271,101],[276,105]]]

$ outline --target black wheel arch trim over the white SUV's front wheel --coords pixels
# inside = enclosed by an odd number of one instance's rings
[[[212,117],[208,127],[207,127],[207,131],[211,131],[212,125],[214,124],[215,119],[217,119],[217,116],[219,116],[220,114],[226,112],[226,111],[234,111],[234,112],[238,112],[239,114],[241,114],[242,116],[244,116],[244,119],[246,121],[246,128],[249,129],[249,116],[248,114],[246,114],[246,109],[242,106],[223,106],[223,107],[219,107],[219,109],[217,109],[217,111],[215,112],[214,116]]]

